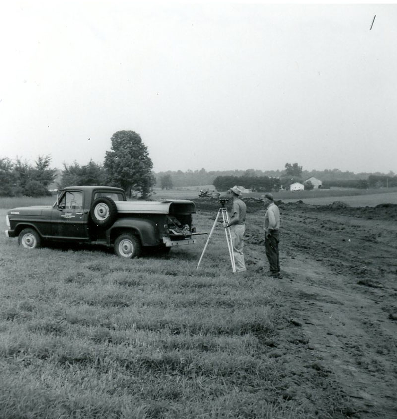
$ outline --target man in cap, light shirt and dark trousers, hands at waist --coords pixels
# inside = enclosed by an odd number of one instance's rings
[[[280,242],[280,211],[274,203],[271,193],[262,195],[262,199],[267,208],[265,213],[265,249],[267,260],[270,265],[270,274],[273,278],[282,278],[280,273],[280,258],[278,253],[278,243]]]

